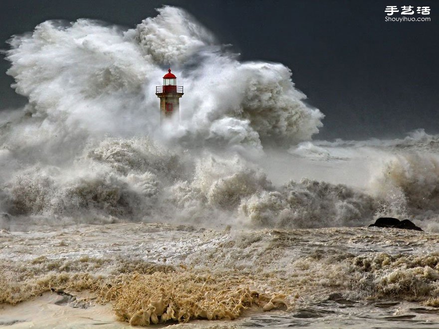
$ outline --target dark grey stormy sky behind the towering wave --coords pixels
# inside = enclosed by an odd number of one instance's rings
[[[439,2],[434,0],[1,0],[2,47],[47,19],[134,27],[162,4],[187,9],[241,60],[281,62],[325,115],[319,139],[439,133]],[[387,5],[430,6],[430,22],[385,22]],[[400,9],[401,10],[401,9]],[[400,13],[396,17],[401,17]],[[422,15],[415,14],[415,17]],[[24,100],[0,61],[0,108]]]

